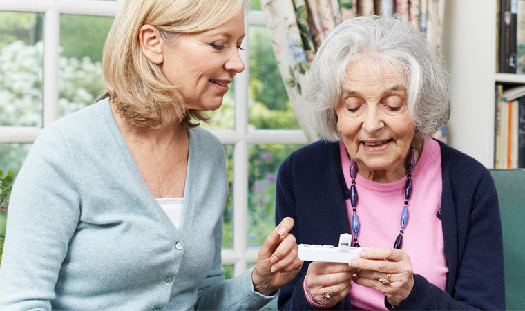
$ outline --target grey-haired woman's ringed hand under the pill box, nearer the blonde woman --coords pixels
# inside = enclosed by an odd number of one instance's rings
[[[305,290],[316,303],[332,307],[350,292],[352,275],[355,272],[347,263],[314,261],[306,272]]]

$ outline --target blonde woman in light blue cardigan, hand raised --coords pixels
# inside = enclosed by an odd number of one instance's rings
[[[128,0],[104,49],[106,91],[46,127],[15,182],[1,310],[253,310],[302,265],[283,220],[225,281],[222,145],[192,119],[245,66],[243,0]]]

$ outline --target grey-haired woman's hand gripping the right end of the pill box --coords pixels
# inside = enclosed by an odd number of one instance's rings
[[[408,254],[401,249],[382,247],[365,249],[359,257],[349,264],[354,269],[361,269],[352,278],[354,283],[383,292],[393,306],[408,297],[414,286],[414,272]],[[385,281],[387,284],[379,279],[388,280]]]

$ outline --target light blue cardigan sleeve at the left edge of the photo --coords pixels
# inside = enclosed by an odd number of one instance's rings
[[[61,133],[48,126],[12,189],[0,269],[1,310],[51,310],[79,220],[79,191],[73,155]]]

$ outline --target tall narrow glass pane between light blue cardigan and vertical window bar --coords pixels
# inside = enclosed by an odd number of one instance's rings
[[[225,144],[226,174],[228,176],[228,198],[222,212],[222,249],[233,248],[233,145]]]

